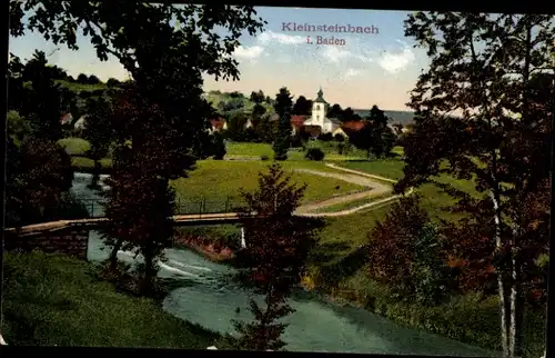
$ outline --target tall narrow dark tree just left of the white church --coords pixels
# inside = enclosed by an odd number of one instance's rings
[[[293,107],[293,96],[286,87],[282,87],[275,96],[274,110],[280,116],[278,130],[273,143],[274,159],[286,160],[287,150],[291,143],[291,111]]]

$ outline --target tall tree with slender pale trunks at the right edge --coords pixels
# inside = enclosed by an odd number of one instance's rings
[[[547,246],[548,211],[532,198],[542,197],[549,178],[545,99],[553,88],[535,96],[534,77],[553,69],[554,27],[536,14],[417,12],[405,21],[405,34],[427,50],[431,64],[411,95],[416,126],[404,141],[397,189],[441,173],[474,178],[477,197],[438,185],[470,216],[461,227],[493,247],[505,357],[522,348],[523,272]],[[533,218],[522,210],[526,200],[535,201]]]

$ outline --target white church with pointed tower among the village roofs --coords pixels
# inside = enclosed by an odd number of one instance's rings
[[[325,101],[324,92],[320,88],[316,99],[312,102],[312,116],[307,119],[303,118],[302,121],[299,120],[300,118],[292,119],[293,131],[296,132],[302,128],[312,137],[333,133],[340,128],[341,122],[335,118],[326,117],[329,108],[330,103]]]

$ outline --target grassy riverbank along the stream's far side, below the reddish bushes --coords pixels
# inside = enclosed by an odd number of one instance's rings
[[[215,238],[212,236],[202,238],[198,232],[195,240],[203,245],[189,241],[186,247],[209,260],[230,263],[225,258],[218,257],[211,249],[206,249],[218,241]],[[500,350],[501,332],[496,297],[471,294],[452,297],[448,302],[440,306],[426,307],[395,299],[387,287],[373,281],[363,270],[334,287],[319,279],[317,271],[317,269],[310,270],[300,284],[306,291],[324,297],[330,302],[360,307],[406,328],[428,331],[492,351]],[[544,325],[542,311],[532,309],[527,311],[523,357],[536,358],[542,355]]]

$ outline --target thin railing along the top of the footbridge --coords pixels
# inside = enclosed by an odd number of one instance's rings
[[[87,208],[90,218],[100,218],[104,216],[103,198],[83,198],[79,201]],[[236,212],[244,206],[240,197],[180,197],[175,199],[175,215],[203,215],[203,213],[228,213]]]

